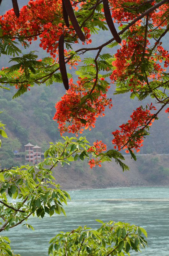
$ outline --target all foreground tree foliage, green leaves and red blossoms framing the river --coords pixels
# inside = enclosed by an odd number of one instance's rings
[[[12,65],[0,71],[1,90],[15,86],[13,98],[16,98],[36,84],[63,83],[67,90],[55,104],[53,117],[61,135],[72,132],[78,136],[84,129],[94,128],[96,118],[104,116],[105,108],[113,107],[112,100],[107,98],[112,85],[115,95],[129,92],[131,99],[137,97],[140,101],[150,96],[160,107],[157,110],[151,102],[138,106],[120,130],[112,131],[114,148],[107,152],[101,140],[93,142],[91,147],[84,137],[66,136],[63,142],[51,142],[43,162],[2,169],[0,231],[21,224],[30,215],[43,218],[54,212],[65,214],[62,203],[66,204],[69,195],[55,184],[52,176],[58,163],[63,166],[87,157],[92,168],[114,158],[123,171],[128,169],[119,151],[126,149],[136,160],[134,150],[140,150],[152,122],[169,103],[169,54],[161,41],[169,30],[167,0],[30,0],[19,13],[17,1],[12,2],[13,9],[0,16],[0,52],[12,56],[9,61]],[[117,30],[114,23],[119,25]],[[109,41],[89,46],[92,34],[108,29],[112,33]],[[18,48],[19,44],[28,48],[37,39],[50,58],[37,60],[35,51],[22,54]],[[77,49],[79,39],[82,47]],[[117,45],[119,49],[112,55],[112,48]],[[107,52],[103,53],[105,49]],[[78,78],[72,78],[66,67],[75,68]],[[165,112],[169,113],[169,108]],[[0,126],[0,134],[6,137],[4,124]],[[6,191],[13,199],[18,198],[16,204],[10,203]],[[137,251],[146,244],[141,232],[146,235],[143,228],[121,222],[102,223],[98,230],[79,227],[52,239],[49,253],[129,255],[130,249]],[[8,238],[1,237],[1,241],[1,254],[12,255]]]

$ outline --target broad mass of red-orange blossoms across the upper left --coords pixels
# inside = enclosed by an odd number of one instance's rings
[[[75,9],[76,5],[74,6]],[[55,58],[58,48],[58,40],[63,28],[65,37],[75,36],[73,26],[67,28],[62,17],[62,0],[30,0],[28,5],[20,9],[19,18],[14,14],[13,8],[0,16],[0,27],[3,35],[10,35],[13,40],[23,36],[24,40],[30,42],[40,37],[40,47]],[[44,22],[45,21],[45,22]],[[59,22],[58,22],[59,21]],[[84,28],[87,43],[91,43],[90,30]],[[78,39],[78,38],[77,38]],[[75,38],[75,43],[77,43]]]

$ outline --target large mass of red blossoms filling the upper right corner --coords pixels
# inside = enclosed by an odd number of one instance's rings
[[[133,8],[132,12],[129,12],[127,5],[128,0],[110,0],[110,5],[112,6],[111,12],[114,22],[117,21],[122,26],[122,23],[132,21],[139,13],[137,8]],[[132,0],[134,4],[143,4],[142,0]],[[151,3],[154,5],[155,1]],[[151,7],[150,5],[150,7]],[[168,4],[165,3],[161,5],[158,10],[149,14],[149,23],[154,27],[157,26],[157,30],[162,29],[167,26],[167,19],[164,19],[164,13],[168,8]],[[165,17],[165,16],[164,16]],[[162,22],[163,20],[163,22]],[[126,40],[122,40],[121,48],[117,50],[117,53],[114,54],[114,61],[112,65],[114,70],[110,76],[112,82],[115,81],[125,81],[128,89],[132,91],[139,91],[147,83],[147,80],[139,80],[139,77],[143,78],[143,61],[145,63],[149,62],[149,69],[147,70],[147,78],[153,80],[163,81],[165,68],[169,66],[169,53],[164,50],[161,46],[161,42],[158,42],[154,46],[154,51],[152,52],[152,46],[149,47],[150,42],[146,39],[146,45],[144,46],[144,36],[145,36],[145,20],[138,20],[134,25],[129,28],[128,37]],[[160,26],[159,26],[160,24]],[[147,36],[151,37],[151,32],[154,29],[147,29]],[[163,30],[161,31],[161,33]],[[160,34],[160,31],[159,31]],[[144,58],[144,60],[143,60]],[[164,60],[164,68],[159,65],[159,62]],[[147,62],[146,62],[147,61]],[[146,64],[144,64],[146,66]],[[135,78],[133,81],[129,81],[128,78],[131,78],[131,70],[134,70]],[[130,86],[130,87],[129,87]]]

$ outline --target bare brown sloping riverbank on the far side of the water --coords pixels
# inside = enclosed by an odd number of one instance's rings
[[[169,186],[169,156],[140,155],[134,161],[125,157],[130,168],[122,172],[113,160],[101,167],[90,168],[87,162],[58,166],[54,170],[56,183],[65,190],[112,187]]]

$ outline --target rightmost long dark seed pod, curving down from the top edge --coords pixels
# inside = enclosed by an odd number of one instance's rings
[[[110,9],[108,6],[108,0],[103,0],[103,9],[104,9],[107,25],[108,25],[114,39],[116,40],[116,42],[120,44],[121,38],[114,27],[114,22],[112,20],[112,16],[111,16]]]

